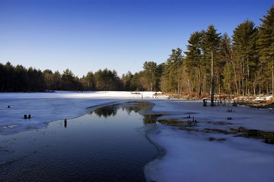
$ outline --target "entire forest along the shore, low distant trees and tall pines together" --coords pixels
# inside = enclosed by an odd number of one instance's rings
[[[116,70],[98,70],[76,77],[71,70],[54,73],[0,63],[0,92],[46,90],[162,91],[176,94],[273,94],[274,6],[260,18],[247,19],[230,37],[214,25],[193,32],[186,51],[177,48],[162,64],[145,62],[138,73],[119,77]]]

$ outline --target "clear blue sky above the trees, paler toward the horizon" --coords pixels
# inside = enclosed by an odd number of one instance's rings
[[[78,75],[119,75],[185,51],[192,32],[213,24],[231,36],[249,18],[259,25],[274,1],[0,0],[0,62]]]

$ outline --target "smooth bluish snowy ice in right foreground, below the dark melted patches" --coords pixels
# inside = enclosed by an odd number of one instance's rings
[[[147,164],[147,181],[273,181],[273,146],[247,138],[210,142],[206,137],[158,126],[151,140],[164,146],[166,155]]]

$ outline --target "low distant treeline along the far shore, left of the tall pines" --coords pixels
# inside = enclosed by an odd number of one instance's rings
[[[88,72],[79,78],[69,69],[61,74],[58,71],[13,66],[10,62],[0,63],[1,92],[45,92],[45,90],[160,90],[158,79],[162,67],[154,62],[145,62],[145,70],[135,73],[129,71],[121,78],[116,70],[98,70]],[[155,75],[154,75],[155,73]]]

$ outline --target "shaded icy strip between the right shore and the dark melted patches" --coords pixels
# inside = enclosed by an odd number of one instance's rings
[[[153,102],[153,100],[151,101]],[[162,100],[153,107],[154,112],[166,112],[169,115],[162,118],[179,118],[186,120],[190,115],[200,121],[199,125],[208,125],[208,122],[229,122],[234,127],[245,127],[246,129],[260,129],[264,131],[274,131],[274,111],[272,109],[254,109],[251,107],[233,107],[231,105],[203,107],[202,101],[186,100]],[[232,112],[228,112],[231,110]],[[232,120],[227,120],[231,117]],[[214,125],[212,123],[212,125]],[[223,125],[220,125],[221,127]],[[227,125],[224,125],[227,127]],[[229,127],[229,126],[228,126]]]

